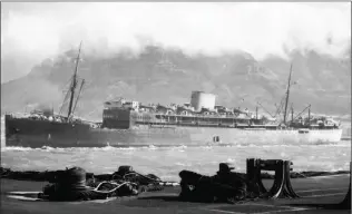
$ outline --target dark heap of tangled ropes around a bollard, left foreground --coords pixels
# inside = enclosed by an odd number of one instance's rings
[[[120,166],[114,174],[94,175],[84,168],[72,167],[52,172],[12,172],[0,168],[1,178],[49,182],[38,194],[49,201],[89,201],[114,196],[133,196],[140,192],[164,189],[173,183],[163,182],[153,174],[143,175],[131,166]]]

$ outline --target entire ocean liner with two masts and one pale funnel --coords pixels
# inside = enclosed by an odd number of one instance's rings
[[[53,110],[32,111],[27,116],[7,114],[6,146],[21,147],[136,147],[136,146],[207,146],[236,144],[336,143],[340,124],[329,117],[311,115],[309,105],[294,115],[289,109],[292,66],[285,96],[274,116],[216,105],[216,96],[193,91],[190,103],[169,106],[127,100],[104,104],[102,121],[92,123],[74,116],[85,84],[78,78],[80,49],[70,88],[67,115]],[[62,105],[63,106],[63,105]],[[264,107],[258,104],[263,109]],[[307,111],[307,116],[303,113]],[[267,111],[268,113],[268,111]]]

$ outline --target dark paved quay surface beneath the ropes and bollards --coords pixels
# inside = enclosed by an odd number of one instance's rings
[[[270,187],[273,181],[264,181]],[[166,187],[162,192],[141,193],[137,197],[123,197],[98,202],[23,202],[7,196],[9,192],[39,192],[46,183],[1,179],[1,211],[3,213],[193,213],[193,214],[268,214],[268,213],[351,213],[350,210],[332,210],[346,195],[350,175],[294,178],[292,185],[301,196],[296,200],[260,200],[244,204],[188,203],[177,200],[179,187]]]

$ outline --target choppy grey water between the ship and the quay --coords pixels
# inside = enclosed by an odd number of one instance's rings
[[[3,120],[2,120],[3,121]],[[1,142],[3,123],[1,123]],[[81,166],[92,173],[111,173],[120,165],[154,173],[166,181],[179,181],[182,169],[212,175],[218,163],[228,162],[245,172],[246,158],[280,158],[293,162],[294,171],[349,171],[351,140],[324,145],[281,146],[247,143],[247,146],[141,147],[141,148],[50,148],[1,147],[1,166],[17,171],[62,169]]]

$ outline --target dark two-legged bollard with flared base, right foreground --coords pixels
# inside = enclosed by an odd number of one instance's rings
[[[267,198],[300,197],[292,188],[290,181],[292,162],[282,159],[247,159],[247,179],[258,186],[260,194]],[[270,191],[262,182],[262,171],[274,171],[274,184]]]

